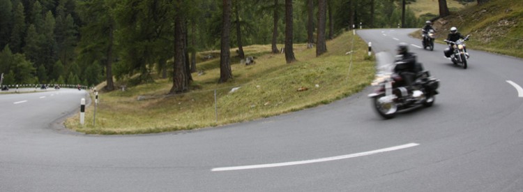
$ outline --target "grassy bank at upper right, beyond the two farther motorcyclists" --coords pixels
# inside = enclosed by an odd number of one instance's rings
[[[434,22],[437,40],[443,43],[450,27],[471,35],[467,47],[523,58],[523,1],[497,0],[467,6]],[[421,27],[420,27],[421,28]],[[419,36],[416,31],[412,36]]]

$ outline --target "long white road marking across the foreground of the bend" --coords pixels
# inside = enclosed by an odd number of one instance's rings
[[[409,143],[405,145],[398,145],[395,147],[388,147],[384,149],[377,149],[370,152],[361,152],[356,154],[348,154],[343,156],[331,156],[326,158],[317,158],[312,160],[306,160],[306,161],[291,161],[291,162],[285,162],[285,163],[269,163],[269,164],[261,164],[261,165],[245,165],[245,166],[236,166],[236,167],[225,167],[225,168],[213,168],[211,171],[225,171],[225,170],[247,170],[247,169],[257,169],[257,168],[274,168],[274,167],[281,167],[281,166],[289,166],[289,165],[302,165],[302,164],[308,164],[308,163],[319,163],[319,162],[325,162],[325,161],[335,161],[335,160],[341,160],[345,158],[353,158],[358,156],[367,156],[372,154],[379,154],[383,152],[392,152],[399,149],[406,149],[409,147],[416,147],[418,146],[418,143]]]

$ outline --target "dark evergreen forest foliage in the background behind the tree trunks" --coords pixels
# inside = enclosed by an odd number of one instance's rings
[[[360,27],[360,23],[363,28],[397,27],[401,19],[398,2],[330,0],[328,14],[333,17],[326,19],[326,26],[333,22],[333,29],[325,29],[324,34],[337,35],[353,24]],[[313,4],[317,25],[317,1]],[[292,5],[291,42],[306,43],[308,1],[294,0]],[[285,1],[234,0],[232,7],[232,49],[238,49],[238,45],[273,44],[273,52],[279,52],[276,44],[285,43]],[[176,13],[183,10],[185,15],[185,52],[219,50],[222,8],[222,1],[216,0],[0,0],[0,48],[9,45],[11,54],[23,57],[23,65],[30,64],[32,68],[0,68],[0,73],[27,73],[17,80],[40,83],[107,81],[107,86],[112,87],[109,90],[114,89],[113,75],[117,80],[137,77],[137,83],[151,82],[156,71],[172,77],[174,68],[166,64],[174,61]],[[420,21],[407,8],[406,27],[420,27]],[[317,34],[317,26],[314,27]],[[232,52],[230,57],[236,54]],[[188,60],[185,58],[184,62]],[[195,72],[195,60],[201,58],[192,56],[191,60],[192,66],[187,70]],[[190,80],[190,73],[186,75]]]

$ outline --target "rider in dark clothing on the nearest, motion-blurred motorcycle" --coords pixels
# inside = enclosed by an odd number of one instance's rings
[[[397,45],[397,55],[394,63],[396,64],[394,73],[400,75],[405,82],[407,90],[412,91],[412,83],[419,70],[416,67],[416,54],[409,52],[409,45],[407,43]]]

